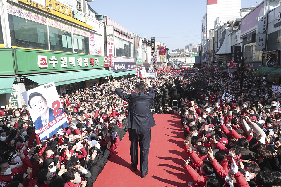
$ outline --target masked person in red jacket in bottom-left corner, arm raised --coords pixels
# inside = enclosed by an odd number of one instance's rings
[[[30,159],[23,154],[22,151],[17,152],[18,157],[22,160],[23,166],[22,167],[15,167],[11,169],[8,160],[0,160],[0,180],[4,182],[11,183],[13,177],[17,173],[25,172],[27,169],[32,167]]]

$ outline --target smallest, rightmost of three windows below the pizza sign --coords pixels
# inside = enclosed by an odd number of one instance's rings
[[[89,54],[89,38],[73,33],[73,47],[77,53]]]

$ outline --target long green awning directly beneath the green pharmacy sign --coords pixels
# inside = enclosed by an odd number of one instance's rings
[[[25,76],[25,77],[34,82],[37,82],[39,85],[54,81],[55,85],[59,86],[59,85],[71,84],[74,82],[80,82],[90,79],[97,79],[100,77],[107,77],[110,75],[114,75],[114,72],[106,69],[101,69],[101,70],[84,70],[84,71],[76,71],[76,72],[53,73],[53,74],[45,74],[45,75],[32,75],[32,76]]]

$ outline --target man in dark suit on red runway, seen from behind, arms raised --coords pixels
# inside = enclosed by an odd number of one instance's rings
[[[149,92],[145,93],[146,85]],[[145,178],[148,174],[148,150],[151,140],[151,127],[155,126],[155,121],[151,112],[151,102],[155,97],[153,88],[148,78],[145,83],[136,84],[135,92],[130,95],[123,93],[119,88],[116,79],[113,80],[115,93],[129,103],[128,128],[129,140],[131,141],[130,155],[132,167],[136,171],[138,165],[138,142],[140,144],[140,172],[141,177]]]

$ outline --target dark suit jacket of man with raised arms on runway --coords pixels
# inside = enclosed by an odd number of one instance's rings
[[[119,88],[115,93],[123,100],[129,103],[128,128],[149,129],[155,126],[155,121],[151,112],[151,102],[155,97],[152,87],[149,87],[149,93],[134,93],[130,95],[123,93]]]

